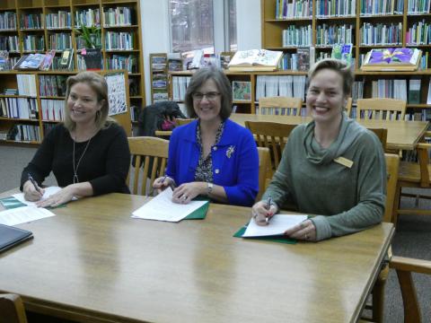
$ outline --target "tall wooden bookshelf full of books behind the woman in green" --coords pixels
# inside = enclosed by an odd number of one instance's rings
[[[428,68],[431,39],[427,38],[427,32],[430,28],[428,25],[431,23],[431,13],[427,11],[427,2],[346,0],[330,3],[326,0],[300,0],[295,1],[295,10],[289,6],[283,17],[283,14],[277,11],[277,6],[284,2],[293,3],[292,0],[261,0],[262,48],[282,50],[285,54],[292,55],[297,48],[312,45],[318,60],[320,57],[330,56],[333,44],[351,42],[356,87],[362,87],[359,91],[362,92],[360,97],[372,97],[373,86],[379,81],[381,86],[392,89],[389,92],[400,95],[393,83],[395,80],[405,80],[405,96],[408,98],[409,81],[419,79],[419,102],[408,101],[408,115],[410,118],[431,119],[431,104],[427,104],[431,77],[431,70]],[[420,69],[415,72],[361,71],[362,60],[369,50],[390,47],[421,49],[423,58]],[[297,72],[286,70],[277,73]]]

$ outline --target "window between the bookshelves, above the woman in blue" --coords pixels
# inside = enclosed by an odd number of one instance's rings
[[[214,54],[236,48],[235,3],[235,0],[169,0],[172,52],[202,49],[206,54]]]

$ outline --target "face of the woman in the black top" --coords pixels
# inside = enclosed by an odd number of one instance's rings
[[[94,123],[101,106],[101,102],[97,100],[97,93],[87,83],[75,83],[70,88],[67,108],[70,118],[76,124]]]

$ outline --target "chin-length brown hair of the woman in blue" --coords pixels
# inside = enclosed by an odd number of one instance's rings
[[[187,87],[186,97],[184,98],[189,118],[197,117],[195,109],[193,108],[193,93],[197,92],[198,88],[209,79],[216,83],[218,92],[220,92],[222,98],[220,117],[225,120],[229,118],[232,113],[232,86],[223,71],[214,66],[201,68],[191,77],[189,86]]]

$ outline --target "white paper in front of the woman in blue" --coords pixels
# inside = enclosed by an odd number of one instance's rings
[[[206,203],[208,201],[191,201],[186,205],[173,203],[172,188],[166,188],[158,196],[155,196],[151,201],[134,211],[132,217],[146,220],[179,222]]]

